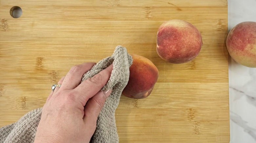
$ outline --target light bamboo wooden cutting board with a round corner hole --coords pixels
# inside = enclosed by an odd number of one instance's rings
[[[23,13],[12,18],[10,9]],[[229,142],[226,0],[1,0],[0,126],[42,107],[52,84],[117,45],[150,59],[159,79],[149,97],[121,97],[120,142]],[[202,34],[199,56],[184,64],[156,52],[159,26],[185,20]]]

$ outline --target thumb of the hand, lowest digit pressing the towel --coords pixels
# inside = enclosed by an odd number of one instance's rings
[[[109,97],[112,89],[107,91],[99,91],[92,98],[88,100],[84,107],[84,122],[88,125],[95,126],[97,118],[106,99]]]

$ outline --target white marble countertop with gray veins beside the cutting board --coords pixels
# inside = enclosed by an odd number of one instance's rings
[[[256,0],[228,0],[228,31],[256,22]],[[256,68],[229,61],[230,143],[256,143]]]

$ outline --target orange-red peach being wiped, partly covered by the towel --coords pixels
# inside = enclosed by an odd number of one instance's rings
[[[157,79],[158,69],[147,58],[131,54],[133,64],[130,67],[129,81],[122,94],[129,98],[142,99],[148,97]]]

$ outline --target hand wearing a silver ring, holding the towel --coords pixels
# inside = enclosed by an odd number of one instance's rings
[[[34,143],[90,142],[97,117],[111,90],[100,91],[108,82],[113,65],[83,81],[84,73],[96,63],[83,63],[71,68],[51,92],[42,109]]]

